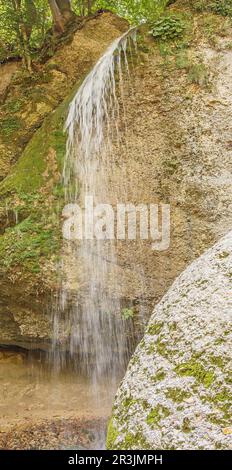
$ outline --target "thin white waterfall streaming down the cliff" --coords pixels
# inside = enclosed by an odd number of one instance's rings
[[[127,48],[131,41],[136,44],[135,29],[108,48],[70,105],[63,169],[66,204],[77,203],[83,208],[86,196],[94,204],[111,203],[113,143],[119,139],[117,93],[122,93],[124,70],[129,73]],[[78,364],[95,386],[102,377],[113,383],[128,361],[128,320],[121,314],[117,295],[120,280],[114,244],[114,240],[83,239],[64,242],[63,249],[54,345],[57,347],[60,338],[68,338],[71,355],[77,355]]]

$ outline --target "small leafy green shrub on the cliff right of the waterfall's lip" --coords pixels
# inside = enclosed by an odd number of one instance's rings
[[[167,41],[177,39],[184,34],[186,24],[182,18],[176,15],[163,16],[153,23],[151,34],[154,38]]]

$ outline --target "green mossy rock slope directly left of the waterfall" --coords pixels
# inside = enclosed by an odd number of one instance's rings
[[[0,236],[3,272],[17,265],[21,273],[39,272],[45,258],[48,261],[59,252],[59,216],[64,198],[60,173],[66,147],[63,127],[76,88],[45,119],[10,175],[0,183],[1,213],[5,212],[6,221],[9,211],[20,216],[20,223],[8,227]]]

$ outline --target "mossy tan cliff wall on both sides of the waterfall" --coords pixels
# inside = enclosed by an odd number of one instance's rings
[[[185,13],[189,2],[175,2],[174,7],[181,4]],[[139,237],[117,240],[115,277],[120,282],[112,292],[115,283],[112,287],[109,279],[106,290],[113,298],[119,296],[123,307],[133,308],[139,328],[186,266],[231,228],[232,30],[228,18],[220,15],[189,10],[188,18],[187,37],[178,45],[170,42],[167,50],[142,27],[137,51],[132,48],[128,54],[130,79],[124,74],[123,92],[118,93],[126,126],[121,119],[107,203],[162,203],[171,210],[168,249],[153,251],[151,240]],[[0,183],[0,344],[7,337],[9,344],[18,344],[20,337],[26,344],[28,333],[20,331],[36,317],[38,328],[33,320],[31,341],[34,329],[37,344],[41,318],[44,342],[50,338],[50,319],[47,316],[45,328],[44,317],[51,311],[51,292],[59,288],[64,121],[81,80],[127,27],[110,13],[91,19],[47,61],[42,82],[37,77],[38,83],[28,88],[16,74],[8,88],[4,125],[0,123],[0,168],[5,168],[0,173],[8,175]],[[17,112],[12,114],[12,107]],[[20,129],[12,131],[14,139],[7,126],[12,117],[16,123],[15,118],[23,119]],[[79,286],[70,256],[66,265],[70,302],[76,302]],[[16,286],[19,295],[12,298]]]

